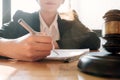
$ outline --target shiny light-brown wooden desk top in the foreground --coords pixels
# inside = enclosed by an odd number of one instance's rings
[[[0,80],[116,80],[82,73],[78,61],[21,62],[0,59]]]

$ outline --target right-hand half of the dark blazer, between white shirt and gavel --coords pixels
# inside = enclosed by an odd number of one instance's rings
[[[61,39],[58,41],[61,49],[99,49],[100,39],[97,34],[79,20],[65,22],[64,24],[66,25],[61,26]]]

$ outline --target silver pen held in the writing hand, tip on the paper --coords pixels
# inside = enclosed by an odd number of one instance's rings
[[[24,27],[28,32],[30,32],[31,34],[35,35],[36,34],[36,31],[34,31],[23,19],[19,19],[18,20],[18,23]],[[53,41],[52,41],[52,50],[56,53],[56,51],[54,50],[55,49],[55,46],[53,44]],[[58,53],[56,53],[57,55],[59,55]]]

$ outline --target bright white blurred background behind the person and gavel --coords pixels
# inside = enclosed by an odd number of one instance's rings
[[[120,0],[65,0],[58,11],[71,9],[76,10],[84,25],[101,34],[103,15],[110,9],[120,9]],[[0,27],[10,21],[17,10],[34,12],[39,10],[39,6],[36,0],[0,0]]]

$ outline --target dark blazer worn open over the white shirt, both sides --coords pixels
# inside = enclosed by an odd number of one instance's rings
[[[18,20],[22,18],[35,31],[40,31],[39,13],[27,13],[17,11],[13,16],[13,20],[2,26],[0,37],[15,39],[28,33]],[[100,39],[97,35],[85,27],[77,18],[73,21],[61,19],[58,16],[58,28],[60,32],[60,40],[57,41],[61,49],[83,49],[89,48],[96,50],[100,47]]]

